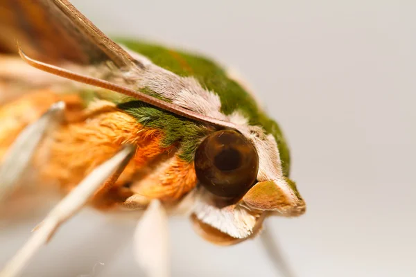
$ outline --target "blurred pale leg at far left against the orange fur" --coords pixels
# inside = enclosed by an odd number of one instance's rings
[[[55,102],[35,123],[28,125],[17,136],[0,167],[0,202],[12,193],[44,134],[62,120],[64,109],[64,102]]]

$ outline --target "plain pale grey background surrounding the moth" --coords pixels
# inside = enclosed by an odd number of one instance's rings
[[[207,53],[252,84],[308,208],[268,219],[297,276],[416,276],[415,1],[73,3],[107,34]],[[3,222],[1,264],[39,220]],[[85,211],[24,276],[142,276],[134,223]],[[275,276],[256,240],[216,247],[184,219],[171,239],[173,276]]]

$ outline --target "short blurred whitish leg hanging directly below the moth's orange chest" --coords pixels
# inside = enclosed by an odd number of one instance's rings
[[[170,276],[168,217],[159,200],[150,202],[134,238],[135,258],[148,277]]]

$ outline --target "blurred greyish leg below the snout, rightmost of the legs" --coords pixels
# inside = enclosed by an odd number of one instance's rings
[[[295,274],[293,274],[293,271],[279,249],[277,240],[273,238],[272,233],[270,233],[270,225],[264,226],[263,231],[260,233],[260,239],[276,271],[283,277],[295,277]]]

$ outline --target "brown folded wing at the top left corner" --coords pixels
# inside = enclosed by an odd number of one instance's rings
[[[28,55],[46,62],[110,61],[123,70],[138,65],[67,0],[0,0],[0,52],[16,53],[16,39]]]

